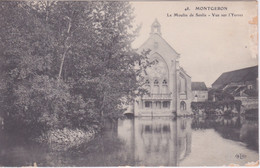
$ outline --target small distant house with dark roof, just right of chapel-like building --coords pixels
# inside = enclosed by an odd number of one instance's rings
[[[192,101],[204,102],[208,100],[208,88],[204,82],[192,82]]]

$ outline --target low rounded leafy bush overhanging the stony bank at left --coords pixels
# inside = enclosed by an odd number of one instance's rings
[[[32,130],[65,127],[88,130],[92,125],[99,124],[94,102],[71,94],[70,87],[62,81],[38,76],[31,85],[19,85],[15,94],[16,110],[9,113],[7,121],[16,121]]]

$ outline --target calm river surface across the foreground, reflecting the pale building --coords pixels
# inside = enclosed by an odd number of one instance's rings
[[[258,121],[135,118],[107,121],[90,143],[54,151],[0,132],[0,166],[223,166],[258,160]]]

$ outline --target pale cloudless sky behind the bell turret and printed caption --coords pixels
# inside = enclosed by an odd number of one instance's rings
[[[135,25],[142,25],[134,48],[141,46],[155,20],[161,24],[162,37],[180,54],[180,65],[192,81],[208,87],[223,73],[258,64],[256,2],[165,1],[131,2]],[[184,9],[189,7],[190,10]],[[221,11],[200,11],[196,7],[227,7]],[[242,17],[167,17],[168,14],[242,14]],[[255,17],[255,20],[254,20]]]

